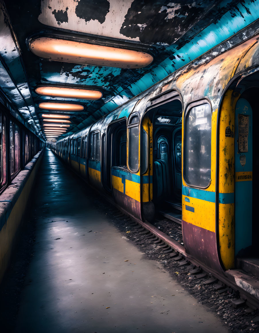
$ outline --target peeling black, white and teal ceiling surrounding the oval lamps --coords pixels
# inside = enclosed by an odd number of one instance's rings
[[[8,0],[1,6],[2,21],[13,41],[17,38],[14,50],[12,46],[2,50],[1,59],[7,62],[12,81],[19,81],[18,88],[23,82],[28,90],[26,108],[30,112],[22,112],[21,101],[16,104],[36,131],[42,126],[41,114],[48,113],[39,108],[40,102],[83,105],[84,111],[62,112],[71,116],[69,132],[74,132],[257,19],[256,1]],[[209,36],[206,29],[214,35]],[[146,52],[153,62],[144,68],[125,69],[42,59],[29,49],[30,39],[41,36]],[[12,52],[17,55],[10,58]],[[90,88],[103,96],[96,101],[44,97],[35,92],[40,85]],[[13,100],[12,93],[9,89],[6,94]],[[21,100],[21,93],[18,95]]]

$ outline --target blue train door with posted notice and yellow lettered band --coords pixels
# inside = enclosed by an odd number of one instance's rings
[[[252,108],[240,98],[235,107],[235,255],[250,252],[252,245],[252,144]]]

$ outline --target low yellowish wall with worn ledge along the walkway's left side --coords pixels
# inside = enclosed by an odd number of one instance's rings
[[[21,170],[0,195],[0,282],[8,267],[18,230],[42,159],[42,151]],[[7,202],[1,202],[8,200]]]

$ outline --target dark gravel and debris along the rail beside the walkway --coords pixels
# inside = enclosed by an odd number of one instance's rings
[[[207,276],[197,279],[193,274],[190,274],[190,269],[186,265],[179,265],[179,262],[174,261],[168,253],[152,243],[145,234],[140,234],[137,226],[130,224],[131,219],[126,215],[118,215],[118,209],[104,200],[94,199],[97,209],[105,211],[109,221],[112,222],[141,252],[145,258],[157,260],[169,272],[173,279],[180,283],[185,290],[192,296],[204,304],[208,309],[218,316],[223,324],[228,327],[232,333],[259,333],[259,310],[253,310],[247,306],[234,308],[231,300],[237,299],[238,295],[233,290],[226,290],[219,293],[215,289],[216,284],[205,284]],[[166,218],[156,216],[153,223],[158,229],[183,243],[181,226],[178,223],[170,221]],[[130,227],[130,233],[127,233]]]

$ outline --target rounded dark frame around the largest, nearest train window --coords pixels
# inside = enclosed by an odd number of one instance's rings
[[[186,108],[185,108],[185,111],[184,111],[184,117],[183,117],[183,121],[182,121],[182,125],[183,125],[183,146],[182,146],[182,177],[183,177],[183,180],[184,182],[186,183],[187,186],[189,187],[194,187],[194,188],[201,188],[201,189],[206,189],[210,186],[211,184],[211,156],[210,156],[210,181],[208,183],[207,186],[199,186],[199,185],[195,185],[195,184],[191,184],[189,183],[187,180],[186,180],[186,176],[185,176],[185,147],[186,147],[186,131],[185,131],[185,124],[186,124],[186,117],[187,117],[187,114],[188,112],[190,111],[190,109],[194,108],[194,107],[197,107],[199,105],[202,105],[202,104],[209,104],[210,106],[210,112],[211,112],[211,133],[210,133],[210,138],[212,139],[212,114],[213,114],[213,111],[212,111],[212,105],[211,105],[211,102],[208,98],[203,98],[201,100],[198,100],[198,101],[194,101],[194,102],[191,102],[189,103]],[[210,146],[210,149],[212,147],[212,144]]]

